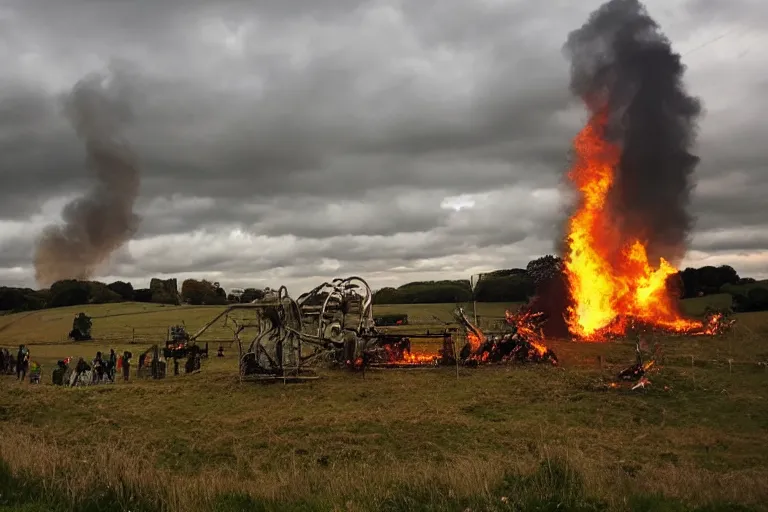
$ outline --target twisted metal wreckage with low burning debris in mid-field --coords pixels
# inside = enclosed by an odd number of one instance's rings
[[[540,317],[507,315],[508,329],[483,334],[461,308],[454,316],[465,331],[440,334],[381,332],[373,319],[373,293],[359,277],[335,279],[293,299],[285,287],[261,300],[234,304],[211,319],[195,340],[224,318],[237,342],[241,380],[315,379],[312,367],[425,368],[483,363],[549,362],[554,353],[543,344]],[[436,353],[413,350],[412,342],[440,339]],[[458,357],[457,354],[458,353]]]

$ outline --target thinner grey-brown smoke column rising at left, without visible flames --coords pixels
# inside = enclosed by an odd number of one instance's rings
[[[90,190],[67,204],[63,225],[48,226],[35,254],[38,284],[89,279],[113,251],[130,240],[139,218],[133,204],[139,194],[139,169],[120,132],[130,109],[120,91],[99,76],[78,82],[64,111],[85,144]]]

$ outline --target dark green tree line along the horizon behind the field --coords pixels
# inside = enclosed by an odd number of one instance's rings
[[[496,270],[483,274],[474,291],[469,280],[416,281],[397,288],[382,288],[373,296],[374,304],[429,304],[478,302],[527,302],[536,293],[537,284],[563,272],[562,259],[542,256],[526,268]],[[686,268],[670,279],[681,298],[694,298],[715,293],[729,293],[734,309],[762,311],[768,309],[768,283],[740,277],[733,267],[705,266]],[[0,287],[0,311],[32,311],[44,308],[148,302],[159,304],[223,305],[251,302],[264,297],[268,289],[247,288],[241,295],[227,293],[218,282],[186,279],[178,289],[176,279],[152,279],[149,288],[134,289],[131,283],[115,281],[64,280],[49,289]]]

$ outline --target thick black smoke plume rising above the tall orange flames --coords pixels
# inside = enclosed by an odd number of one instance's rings
[[[680,55],[637,0],[603,4],[564,50],[571,91],[591,114],[608,115],[607,137],[621,148],[607,205],[624,238],[617,247],[640,239],[651,261],[678,264],[694,223],[690,150],[701,113],[683,86]]]

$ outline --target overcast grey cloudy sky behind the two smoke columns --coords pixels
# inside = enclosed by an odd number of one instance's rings
[[[98,276],[374,287],[552,252],[585,0],[0,0],[0,283],[84,190],[61,94],[119,80],[138,233]],[[706,109],[684,265],[768,278],[768,2],[652,0]]]

